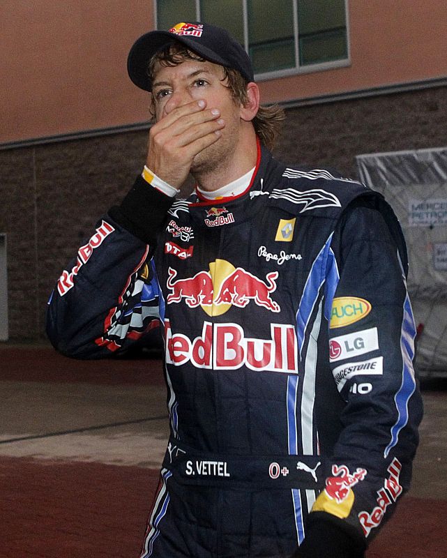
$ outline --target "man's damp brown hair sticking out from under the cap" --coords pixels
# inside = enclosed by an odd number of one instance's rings
[[[160,66],[178,66],[185,60],[199,60],[204,62],[205,59],[180,43],[169,43],[164,49],[158,51],[149,61],[148,74],[149,79],[153,82],[155,77],[155,68],[157,64]],[[224,77],[222,82],[226,81],[227,87],[234,99],[235,103],[246,105],[248,103],[247,85],[248,81],[237,71],[232,68],[221,66]],[[155,100],[152,96],[151,115],[155,114]],[[259,107],[259,110],[252,120],[255,132],[259,140],[265,144],[268,149],[272,149],[275,139],[278,137],[280,123],[285,119],[284,110],[279,105],[271,105],[268,107]]]

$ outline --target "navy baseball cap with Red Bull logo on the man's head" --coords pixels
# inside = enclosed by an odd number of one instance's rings
[[[205,60],[237,70],[249,82],[255,79],[250,57],[228,31],[208,23],[182,22],[169,31],[145,33],[135,41],[128,56],[128,73],[140,89],[152,90],[148,74],[149,60],[174,41],[179,41]]]

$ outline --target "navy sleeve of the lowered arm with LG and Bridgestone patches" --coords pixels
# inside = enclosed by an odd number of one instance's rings
[[[349,209],[333,236],[336,280],[326,292],[329,361],[344,410],[310,533],[330,522],[358,552],[409,489],[422,417],[416,328],[391,230],[376,209]]]

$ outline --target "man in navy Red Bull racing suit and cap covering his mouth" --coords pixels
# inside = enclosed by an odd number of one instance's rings
[[[360,183],[272,158],[278,112],[223,29],[146,33],[128,70],[152,95],[146,165],[47,329],[100,358],[162,323],[171,437],[142,557],[362,557],[421,420],[397,220]]]

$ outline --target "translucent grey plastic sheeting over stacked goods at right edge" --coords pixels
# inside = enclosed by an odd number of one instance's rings
[[[407,240],[418,368],[447,373],[447,147],[356,161],[361,181],[386,197]]]

